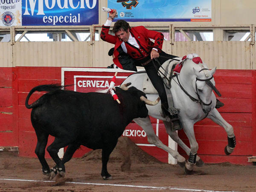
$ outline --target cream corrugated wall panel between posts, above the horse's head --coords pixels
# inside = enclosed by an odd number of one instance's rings
[[[172,50],[180,57],[196,53],[209,68],[252,69],[249,41],[179,41]]]

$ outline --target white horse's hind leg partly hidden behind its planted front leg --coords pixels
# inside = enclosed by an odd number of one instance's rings
[[[189,156],[190,148],[185,143],[183,143],[183,141],[178,136],[177,131],[172,131],[170,122],[164,121],[163,123],[164,123],[164,125],[166,127],[167,133],[172,138],[172,140],[174,140],[178,145],[180,145],[180,147],[183,148],[183,150]],[[198,167],[204,166],[204,161],[201,160],[201,158],[198,155],[196,156],[196,163],[195,163],[195,165],[198,166]],[[183,166],[185,166],[185,164]]]

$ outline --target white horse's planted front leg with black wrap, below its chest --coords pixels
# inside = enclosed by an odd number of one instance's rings
[[[196,163],[196,156],[198,151],[198,143],[195,140],[194,123],[189,120],[183,120],[183,131],[189,139],[191,148],[189,159],[185,163],[184,172],[185,174],[191,174]]]

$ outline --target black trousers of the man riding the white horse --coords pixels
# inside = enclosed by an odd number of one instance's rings
[[[177,56],[175,55],[169,55],[166,52],[160,52],[159,53],[159,58],[157,58],[157,60],[159,61],[159,63],[162,65],[165,61],[167,61],[170,58],[175,58]],[[156,67],[153,64],[153,61],[149,62],[147,65],[144,66],[146,73],[149,77],[149,79],[151,80],[154,88],[157,90],[160,99],[161,99],[161,103],[163,105],[164,108],[168,109],[168,100],[167,100],[167,96],[166,96],[166,90],[165,90],[165,85],[163,84],[163,79],[158,75],[157,70],[159,69],[159,64],[157,61],[154,61],[154,63],[156,64]]]

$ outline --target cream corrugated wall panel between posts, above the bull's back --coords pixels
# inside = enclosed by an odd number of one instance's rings
[[[15,66],[92,67],[90,42],[16,42]]]

